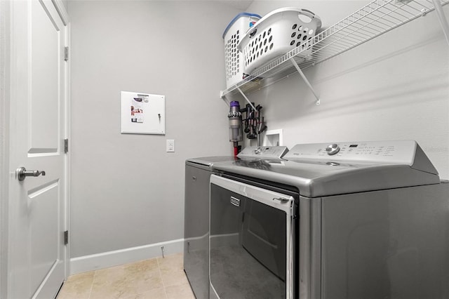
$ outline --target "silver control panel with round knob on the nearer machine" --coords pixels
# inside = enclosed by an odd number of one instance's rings
[[[315,143],[295,145],[283,159],[412,165],[416,149],[413,140]]]

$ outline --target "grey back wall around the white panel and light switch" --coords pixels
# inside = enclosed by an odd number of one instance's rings
[[[183,237],[185,159],[232,154],[220,90],[236,13],[209,1],[69,1],[72,258]],[[166,135],[121,135],[120,91],[166,95]]]

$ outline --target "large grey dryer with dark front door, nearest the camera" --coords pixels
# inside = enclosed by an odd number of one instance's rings
[[[449,298],[449,183],[413,140],[213,164],[211,298]]]

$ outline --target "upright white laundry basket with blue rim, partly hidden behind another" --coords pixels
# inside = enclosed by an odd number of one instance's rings
[[[229,88],[243,79],[243,57],[237,49],[246,31],[262,18],[255,13],[239,13],[223,33],[225,41],[226,86]]]

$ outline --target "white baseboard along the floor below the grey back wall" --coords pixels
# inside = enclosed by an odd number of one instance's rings
[[[127,263],[134,263],[139,260],[147,260],[149,258],[157,258],[162,256],[161,246],[163,246],[164,255],[182,253],[184,248],[184,239],[71,258],[70,274],[72,275]]]

